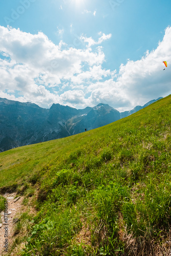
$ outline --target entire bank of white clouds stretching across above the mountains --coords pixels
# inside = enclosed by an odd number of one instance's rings
[[[88,47],[76,49],[63,41],[55,45],[42,32],[0,26],[0,97],[45,108],[52,103],[84,108],[103,102],[124,111],[171,93],[170,27],[156,49],[137,61],[127,60],[118,73],[103,68],[100,44],[111,36],[99,32],[97,41],[82,36]],[[163,71],[164,60],[168,68]]]

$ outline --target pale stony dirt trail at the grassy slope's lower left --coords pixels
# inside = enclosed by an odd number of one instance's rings
[[[7,255],[7,252],[5,252],[4,250],[6,248],[9,248],[12,245],[12,242],[14,240],[14,230],[15,230],[15,226],[17,223],[17,216],[19,216],[19,214],[22,212],[22,202],[24,197],[16,197],[16,193],[6,193],[5,195],[3,195],[3,197],[5,197],[7,199],[8,204],[6,204],[7,207],[7,211],[5,212],[2,211],[1,212],[1,222],[0,222],[0,255]],[[15,199],[14,199],[15,198]],[[8,238],[5,238],[4,236],[8,235]],[[7,240],[6,240],[7,239]],[[5,243],[6,245],[8,243],[8,246],[5,248]]]

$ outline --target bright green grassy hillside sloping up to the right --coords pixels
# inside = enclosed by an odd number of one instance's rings
[[[19,255],[169,255],[171,96],[98,129],[0,154],[25,195]],[[16,254],[17,255],[17,254]]]

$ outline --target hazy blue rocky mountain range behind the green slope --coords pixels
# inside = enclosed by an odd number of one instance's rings
[[[0,98],[0,152],[96,129],[127,117],[161,99],[120,113],[108,104],[85,109],[53,104],[50,109],[26,102]]]

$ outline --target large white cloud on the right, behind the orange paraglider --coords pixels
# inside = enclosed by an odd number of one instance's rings
[[[89,102],[105,101],[114,105],[119,111],[130,110],[136,105],[143,105],[147,101],[165,97],[171,93],[171,28],[165,30],[164,38],[156,50],[146,52],[137,61],[128,60],[121,65],[117,79],[98,81],[91,84]],[[165,68],[163,60],[168,67]]]

